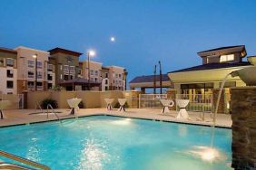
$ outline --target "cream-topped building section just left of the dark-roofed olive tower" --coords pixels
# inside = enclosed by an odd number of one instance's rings
[[[49,52],[24,46],[17,52],[17,92],[25,90],[47,90],[47,68]]]

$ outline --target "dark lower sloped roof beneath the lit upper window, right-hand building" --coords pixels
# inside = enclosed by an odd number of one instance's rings
[[[213,70],[213,69],[222,69],[222,68],[230,68],[230,67],[239,67],[239,66],[246,66],[251,65],[248,61],[241,61],[241,62],[231,62],[231,63],[208,63],[208,64],[202,64],[178,71],[171,71],[172,72],[186,72],[186,71],[203,71],[203,70]]]

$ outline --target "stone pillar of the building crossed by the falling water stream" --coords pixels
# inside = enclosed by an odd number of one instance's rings
[[[213,108],[214,108],[214,112],[215,112],[215,107],[216,107],[216,104],[217,104],[217,99],[218,99],[218,96],[219,96],[219,91],[220,89],[213,89],[212,90],[212,102],[213,102]],[[221,96],[221,99],[220,99],[220,103],[219,103],[219,108],[218,108],[218,111],[217,113],[224,113],[225,112],[225,97],[224,97],[224,93],[225,93],[225,90],[222,90],[222,96]]]

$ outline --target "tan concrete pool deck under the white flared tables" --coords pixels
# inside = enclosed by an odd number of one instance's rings
[[[170,111],[170,113],[162,114],[162,109],[127,109],[126,112],[120,112],[117,109],[113,109],[108,111],[106,109],[98,108],[98,109],[79,109],[75,112],[75,115],[69,115],[70,109],[55,109],[57,115],[63,118],[80,118],[86,116],[94,116],[94,115],[110,115],[117,117],[125,117],[125,118],[143,118],[143,119],[151,119],[155,121],[168,121],[168,122],[178,122],[178,123],[186,123],[186,124],[195,124],[195,125],[204,125],[204,126],[212,126],[212,118],[209,113],[205,113],[204,120],[201,120],[199,112],[188,112],[189,119],[184,118],[176,118],[178,112]],[[57,120],[54,114],[49,114],[49,118],[46,118],[44,114],[31,114],[34,112],[40,112],[40,110],[35,109],[9,109],[4,110],[5,119],[0,119],[0,127],[14,126],[14,125],[22,125],[22,124],[30,124],[34,122],[44,122],[49,120]],[[227,114],[217,114],[216,117],[216,127],[231,127],[231,115]]]

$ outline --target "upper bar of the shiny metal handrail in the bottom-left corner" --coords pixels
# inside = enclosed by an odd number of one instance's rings
[[[17,161],[19,163],[23,163],[25,165],[30,165],[30,166],[33,166],[33,167],[36,167],[36,168],[40,168],[40,169],[43,169],[43,170],[50,170],[50,167],[48,167],[47,165],[42,165],[42,164],[36,163],[36,162],[28,160],[28,159],[26,159],[24,157],[15,156],[13,154],[7,153],[7,152],[2,151],[2,150],[0,150],[0,156],[5,156],[7,158],[15,160],[15,161]],[[1,169],[1,164],[0,164],[0,169]]]

